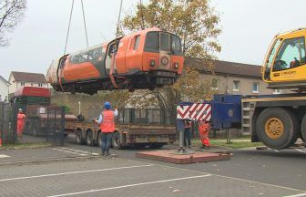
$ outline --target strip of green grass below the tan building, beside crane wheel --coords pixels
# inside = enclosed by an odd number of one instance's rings
[[[191,140],[192,146],[201,146],[202,143],[198,139],[193,139]],[[231,149],[243,149],[243,148],[248,148],[248,147],[257,147],[257,146],[263,146],[261,142],[250,142],[250,140],[231,140],[230,144],[227,144],[227,140],[215,140],[215,139],[210,139],[210,144],[212,146],[220,146],[220,147],[227,147]]]

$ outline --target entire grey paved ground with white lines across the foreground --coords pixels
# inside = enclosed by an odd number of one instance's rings
[[[188,165],[136,158],[142,150],[0,150],[0,196],[306,196],[306,149],[231,150],[230,161]]]

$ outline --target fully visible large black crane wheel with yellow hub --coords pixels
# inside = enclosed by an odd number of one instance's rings
[[[268,108],[260,113],[256,132],[267,147],[285,149],[298,139],[299,122],[288,109]]]

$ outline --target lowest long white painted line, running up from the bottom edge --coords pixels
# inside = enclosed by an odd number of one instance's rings
[[[155,184],[155,183],[169,182],[169,181],[180,181],[180,180],[198,179],[198,178],[209,177],[209,176],[211,176],[211,174],[199,175],[199,176],[190,176],[190,177],[182,177],[182,178],[169,179],[169,180],[139,182],[139,183],[135,183],[135,184],[128,184],[128,185],[121,185],[121,186],[117,186],[117,187],[102,188],[102,189],[98,189],[98,190],[89,190],[89,191],[83,191],[83,192],[63,193],[63,194],[58,194],[58,195],[53,195],[53,196],[48,196],[48,197],[60,197],[60,196],[70,196],[70,195],[77,195],[77,194],[83,194],[83,193],[89,193],[89,192],[109,191],[109,190],[116,190],[116,189],[121,189],[121,188],[135,187],[135,186],[140,186],[140,185],[148,185],[148,184]]]

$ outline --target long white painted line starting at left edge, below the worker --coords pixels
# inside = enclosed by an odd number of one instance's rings
[[[54,173],[54,174],[42,174],[42,175],[27,176],[27,177],[15,177],[15,178],[2,179],[2,180],[0,180],[0,182],[2,182],[2,181],[16,181],[16,180],[35,179],[35,178],[42,178],[42,177],[53,177],[53,176],[60,176],[60,175],[66,175],[66,174],[89,173],[89,172],[96,172],[96,171],[115,171],[115,170],[142,168],[142,167],[149,167],[149,166],[153,166],[153,164],[138,165],[138,166],[125,166],[125,167],[118,167],[118,168],[111,168],[111,169],[97,169],[97,170],[90,170],[90,171],[69,171],[69,172]]]

